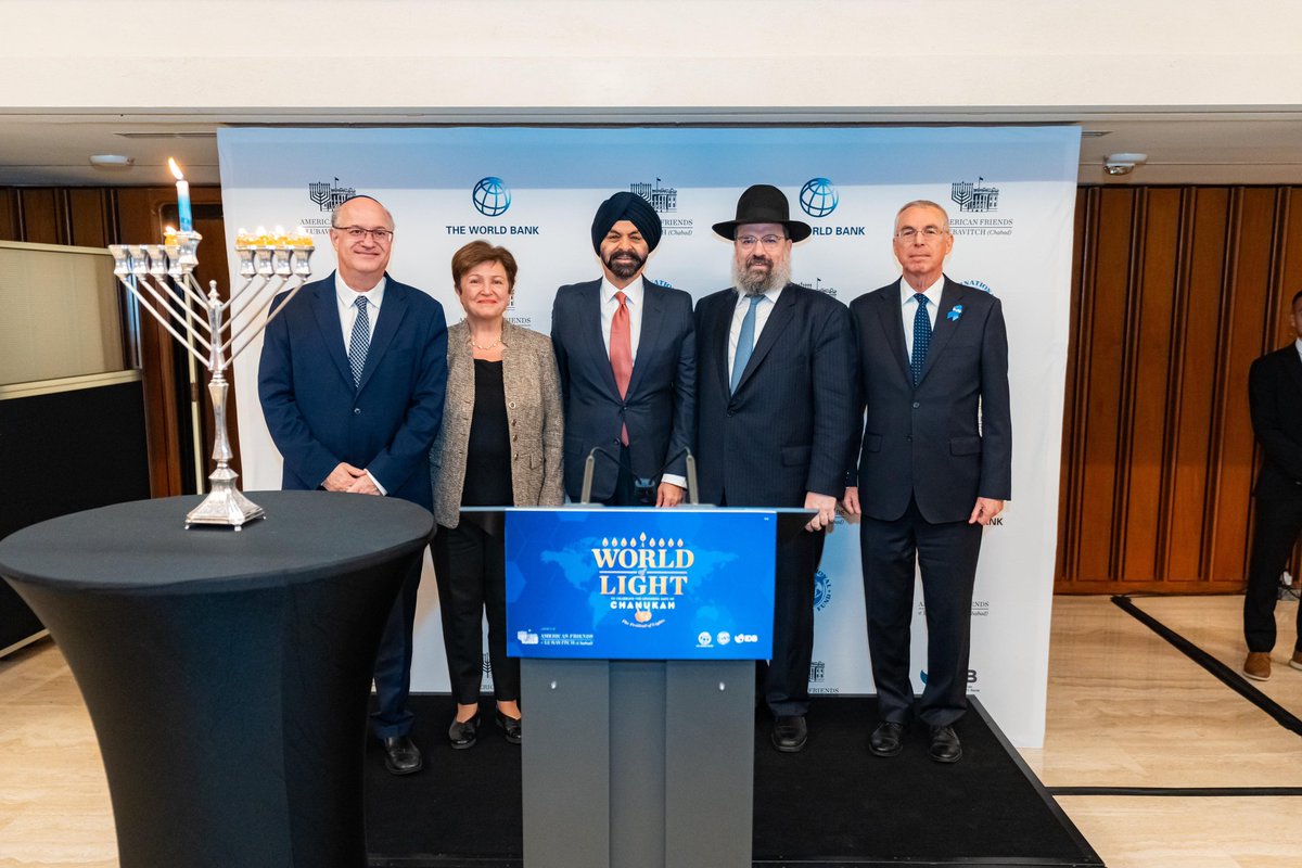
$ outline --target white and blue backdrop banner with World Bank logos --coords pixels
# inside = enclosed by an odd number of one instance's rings
[[[217,135],[225,250],[234,233],[283,225],[316,236],[314,275],[331,273],[329,210],[365,193],[396,221],[389,273],[461,319],[452,254],[486,238],[519,263],[508,315],[551,329],[562,284],[600,276],[590,225],[618,190],[647,198],[664,238],[647,276],[700,298],[730,284],[730,220],[751,183],[772,183],[814,236],[792,252],[794,280],[849,303],[900,276],[894,213],[944,204],[956,236],[945,272],[999,295],[1010,345],[1013,500],[986,530],[973,604],[969,690],[1014,744],[1044,737],[1059,453],[1068,347],[1075,128],[754,129],[228,129]],[[208,255],[223,243],[210,238]],[[256,349],[234,373],[245,489],[277,488],[280,455],[256,410]],[[858,534],[838,522],[818,574],[810,687],[870,694]],[[430,567],[421,588],[413,690],[448,688]],[[921,588],[914,682],[926,679]]]

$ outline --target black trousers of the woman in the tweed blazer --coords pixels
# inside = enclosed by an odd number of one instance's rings
[[[439,586],[443,647],[452,695],[462,705],[479,701],[483,618],[488,616],[488,662],[497,701],[519,699],[519,660],[506,656],[506,561],[501,534],[465,515],[457,527],[439,526],[431,550]]]

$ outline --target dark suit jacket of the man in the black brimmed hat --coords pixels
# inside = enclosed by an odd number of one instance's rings
[[[840,497],[858,431],[849,311],[824,293],[788,284],[730,393],[736,305],[734,289],[697,305],[702,501],[803,506],[807,492]]]

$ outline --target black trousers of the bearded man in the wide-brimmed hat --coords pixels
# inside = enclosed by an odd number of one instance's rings
[[[759,664],[759,688],[773,716],[803,716],[810,707],[814,656],[814,574],[823,531],[801,531],[777,544],[773,588],[773,657]]]

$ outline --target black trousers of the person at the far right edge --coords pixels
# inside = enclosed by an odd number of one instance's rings
[[[1299,534],[1302,500],[1256,500],[1256,530],[1243,593],[1243,638],[1249,651],[1275,648],[1275,590]],[[1294,649],[1302,651],[1302,605],[1293,642]]]

